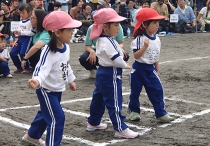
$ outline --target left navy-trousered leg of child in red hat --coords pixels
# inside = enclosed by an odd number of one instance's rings
[[[139,95],[142,90],[142,80],[141,80],[141,71],[139,69],[138,63],[134,62],[131,72],[130,72],[130,101],[128,103],[128,109],[130,112],[135,112],[140,114],[140,101]]]

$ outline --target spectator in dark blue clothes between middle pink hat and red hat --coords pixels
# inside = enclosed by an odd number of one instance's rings
[[[127,18],[126,20],[120,22],[124,36],[127,36],[128,28],[131,28],[131,13],[129,11],[128,5],[126,5],[126,0],[118,0],[118,3],[112,5],[112,8],[122,17]]]

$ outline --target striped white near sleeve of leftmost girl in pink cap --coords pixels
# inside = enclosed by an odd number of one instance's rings
[[[46,45],[45,48],[42,50],[39,62],[37,63],[36,68],[33,73],[33,78],[38,80],[40,85],[48,76],[52,68],[52,64],[53,64],[52,60],[53,59],[50,54],[50,49]]]

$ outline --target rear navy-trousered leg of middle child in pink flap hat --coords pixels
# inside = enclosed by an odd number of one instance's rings
[[[105,105],[103,96],[96,88],[93,92],[93,98],[90,104],[90,116],[88,117],[88,123],[92,126],[99,125],[104,111]]]

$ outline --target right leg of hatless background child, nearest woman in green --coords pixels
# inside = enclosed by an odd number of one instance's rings
[[[32,37],[22,37],[21,40],[21,49],[20,49],[20,57],[21,59],[25,56],[28,50],[31,47]],[[27,61],[26,66],[24,69],[29,70],[29,62]]]

